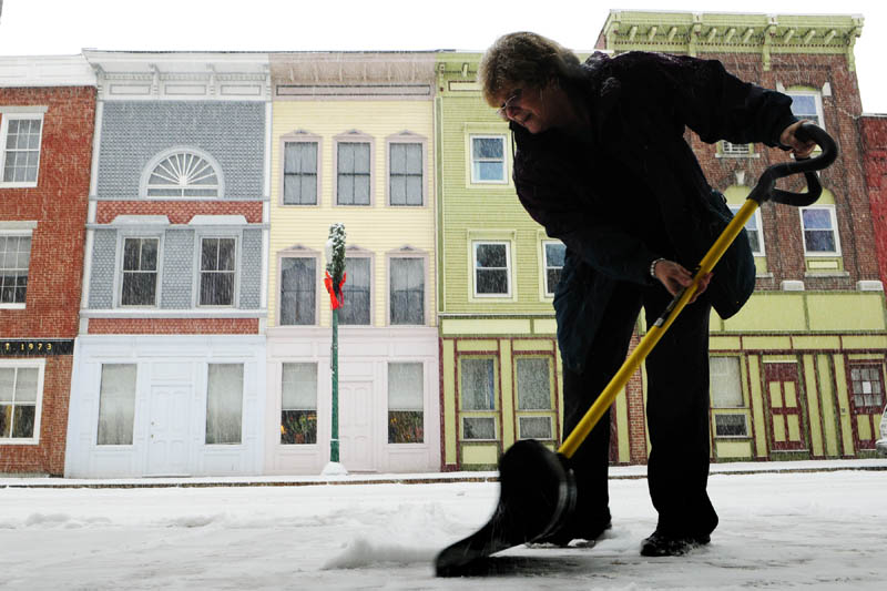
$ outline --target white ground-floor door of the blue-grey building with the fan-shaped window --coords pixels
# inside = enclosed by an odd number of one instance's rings
[[[186,475],[191,386],[152,386],[147,475]]]

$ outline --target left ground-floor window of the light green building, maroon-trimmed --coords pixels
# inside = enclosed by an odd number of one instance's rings
[[[462,439],[496,437],[496,367],[492,358],[466,358],[461,370],[460,410]]]

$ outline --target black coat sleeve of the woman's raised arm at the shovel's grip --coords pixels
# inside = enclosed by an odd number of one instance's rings
[[[704,142],[778,146],[783,130],[797,121],[789,96],[743,82],[717,60],[662,53],[625,57],[632,81],[626,90],[654,99]]]

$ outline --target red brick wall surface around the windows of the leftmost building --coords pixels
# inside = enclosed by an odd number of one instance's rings
[[[83,273],[95,89],[0,89],[0,105],[41,105],[38,185],[0,188],[0,220],[31,221],[23,309],[0,310],[0,337],[74,338]],[[1,115],[0,115],[1,116]],[[0,472],[64,471],[70,355],[47,358],[38,445],[0,445]]]

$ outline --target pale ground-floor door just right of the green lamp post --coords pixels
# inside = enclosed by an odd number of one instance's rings
[[[351,472],[373,471],[373,383],[339,384],[339,461]]]

